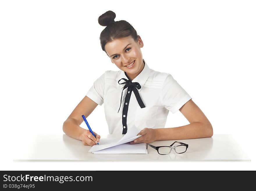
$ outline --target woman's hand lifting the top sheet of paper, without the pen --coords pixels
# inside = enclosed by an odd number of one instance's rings
[[[130,144],[136,144],[136,143],[151,143],[156,140],[156,129],[153,128],[144,128],[142,129],[138,135],[142,135],[141,137],[134,139],[130,142]]]

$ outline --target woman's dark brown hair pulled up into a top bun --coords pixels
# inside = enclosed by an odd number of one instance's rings
[[[114,19],[115,13],[111,10],[103,13],[98,18],[99,24],[106,26],[99,36],[101,48],[105,52],[106,43],[118,38],[125,38],[131,35],[134,41],[138,42],[138,34],[130,23],[125,20],[114,21]]]

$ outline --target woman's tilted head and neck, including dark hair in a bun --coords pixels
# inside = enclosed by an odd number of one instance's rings
[[[111,62],[133,80],[144,67],[141,52],[143,42],[131,24],[124,20],[115,22],[114,19],[115,13],[112,11],[99,17],[99,24],[107,26],[100,34],[100,44]]]

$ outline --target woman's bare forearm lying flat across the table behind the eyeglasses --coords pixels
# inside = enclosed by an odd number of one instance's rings
[[[157,140],[182,140],[211,137],[213,135],[210,123],[194,122],[189,125],[173,128],[157,128]]]

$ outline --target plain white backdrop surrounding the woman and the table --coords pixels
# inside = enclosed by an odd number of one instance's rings
[[[255,170],[255,9],[245,0],[0,1],[1,170]],[[99,41],[108,10],[136,29],[149,67],[171,74],[251,162],[13,162],[24,137],[62,135],[93,82],[119,70]],[[88,122],[108,134],[103,105]],[[166,127],[186,124],[169,112]]]

